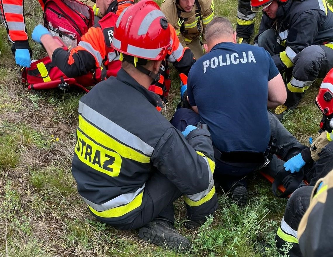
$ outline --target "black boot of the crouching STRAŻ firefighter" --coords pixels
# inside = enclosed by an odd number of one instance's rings
[[[190,241],[166,220],[154,219],[140,228],[139,237],[146,242],[175,251],[187,251]]]

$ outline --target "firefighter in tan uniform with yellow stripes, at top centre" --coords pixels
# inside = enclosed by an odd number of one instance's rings
[[[164,0],[161,10],[182,46],[189,47],[195,59],[201,57],[201,44],[206,43],[205,27],[214,17],[214,0]]]

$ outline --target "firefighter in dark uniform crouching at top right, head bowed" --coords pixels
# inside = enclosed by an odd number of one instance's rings
[[[304,90],[333,67],[333,9],[326,0],[251,0],[252,11],[263,10],[258,46],[273,57],[287,79],[288,97],[275,109],[281,119],[298,105]]]

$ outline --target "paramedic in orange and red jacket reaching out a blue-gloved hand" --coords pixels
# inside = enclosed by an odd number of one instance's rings
[[[120,56],[112,47],[114,28],[118,17],[123,10],[134,4],[132,0],[103,0],[98,1],[99,11],[104,16],[88,32],[82,36],[78,46],[69,52],[62,49],[42,25],[37,25],[32,33],[33,40],[42,43],[53,64],[66,76],[78,77],[95,70],[97,81],[116,76],[121,67]],[[183,48],[179,43],[176,32],[170,29],[172,37],[172,50],[168,52],[167,61],[182,73],[187,74],[195,62],[189,48]],[[169,70],[165,65],[163,74],[156,87],[150,89],[157,92],[164,101],[170,88]],[[101,70],[100,67],[103,67]],[[159,87],[159,88],[158,88]]]

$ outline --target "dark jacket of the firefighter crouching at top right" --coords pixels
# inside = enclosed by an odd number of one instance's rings
[[[333,41],[332,11],[325,0],[289,0],[279,6],[276,19],[264,12],[258,35],[273,28],[277,42],[286,47],[272,57],[280,71],[292,67],[294,57],[305,47]]]

